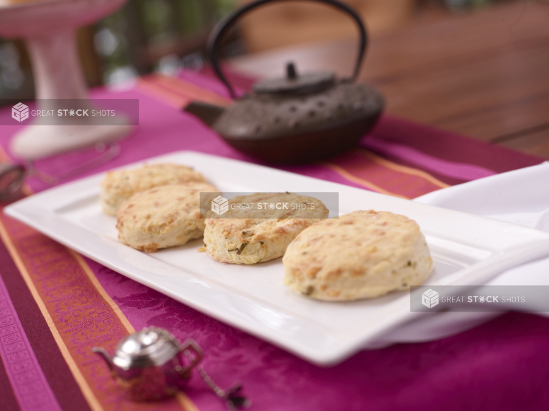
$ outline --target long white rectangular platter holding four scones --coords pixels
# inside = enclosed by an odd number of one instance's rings
[[[222,192],[338,192],[339,214],[374,209],[406,215],[421,227],[435,261],[427,284],[482,284],[549,255],[547,233],[506,222],[197,152],[147,161],[164,162],[194,167]],[[283,286],[281,259],[223,264],[197,252],[201,239],[153,254],[127,247],[117,239],[115,218],[100,207],[103,178],[101,173],[54,187],[5,213],[122,275],[317,364],[343,361],[412,316],[407,292],[354,302],[312,300]]]

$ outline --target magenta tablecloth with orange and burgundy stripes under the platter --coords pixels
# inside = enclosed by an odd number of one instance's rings
[[[94,98],[138,98],[140,123],[121,142],[119,157],[87,174],[176,150],[256,162],[178,109],[189,99],[212,101],[223,93],[219,83],[191,72],[180,79],[145,78],[124,92],[94,90]],[[0,129],[4,150],[17,129]],[[361,144],[327,163],[285,169],[413,198],[542,161],[391,117]],[[37,166],[56,174],[92,155],[73,153]],[[38,180],[29,185],[34,191],[47,188]],[[222,386],[243,381],[251,409],[549,409],[546,318],[509,313],[450,338],[362,351],[338,366],[320,368],[83,259],[5,216],[0,233],[2,411],[224,409],[198,376],[186,395],[166,402],[137,404],[121,397],[91,347],[112,352],[119,339],[149,325],[197,340],[206,352],[204,367]]]

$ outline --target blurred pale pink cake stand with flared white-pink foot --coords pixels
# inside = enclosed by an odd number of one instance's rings
[[[25,39],[32,61],[37,100],[80,99],[82,108],[95,108],[87,100],[75,31],[77,27],[115,12],[126,1],[52,0],[7,5],[5,0],[0,0],[0,36]],[[51,102],[47,107],[41,106],[40,102],[38,105],[40,110],[56,109]],[[71,118],[70,125],[45,125],[38,119],[14,136],[10,148],[16,157],[36,159],[98,142],[108,144],[130,131],[131,126],[124,117],[115,118],[109,125],[84,125],[77,117]]]

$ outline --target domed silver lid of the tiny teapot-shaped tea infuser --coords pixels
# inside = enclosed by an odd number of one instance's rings
[[[120,341],[113,362],[125,369],[161,365],[177,355],[179,346],[179,341],[164,328],[144,328]]]

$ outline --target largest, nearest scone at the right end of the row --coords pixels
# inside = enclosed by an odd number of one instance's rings
[[[355,211],[300,233],[282,259],[284,284],[312,298],[349,301],[421,284],[433,268],[415,221]]]

